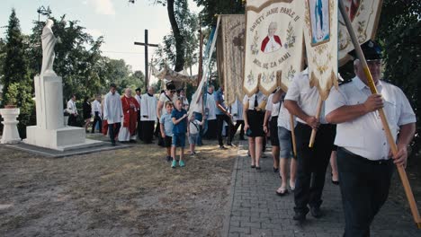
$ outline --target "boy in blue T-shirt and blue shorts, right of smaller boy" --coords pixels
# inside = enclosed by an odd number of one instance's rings
[[[184,167],[184,145],[185,145],[185,133],[187,132],[187,111],[183,109],[183,102],[177,100],[175,102],[175,110],[171,112],[171,118],[173,119],[173,145],[171,147],[171,154],[173,155],[173,162],[171,168],[175,168],[177,161],[175,160],[175,147],[180,147],[180,167]]]

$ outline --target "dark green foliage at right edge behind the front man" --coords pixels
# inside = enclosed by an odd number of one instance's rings
[[[412,143],[421,150],[419,81],[421,75],[421,1],[384,0],[378,39],[383,47],[384,79],[396,84],[408,97],[417,115],[417,136]]]

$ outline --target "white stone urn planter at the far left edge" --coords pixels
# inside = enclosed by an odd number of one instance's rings
[[[17,124],[19,123],[19,121],[16,120],[16,118],[18,118],[19,116],[19,113],[19,109],[0,110],[0,114],[4,119],[4,121],[2,122],[2,124],[4,124],[3,136],[0,140],[2,144],[17,144],[22,141],[17,129]]]

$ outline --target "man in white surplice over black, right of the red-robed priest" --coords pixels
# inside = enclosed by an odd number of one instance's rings
[[[152,143],[154,136],[155,121],[157,121],[157,98],[154,95],[154,88],[149,86],[148,92],[142,95],[140,103],[140,120],[142,124],[143,142]]]

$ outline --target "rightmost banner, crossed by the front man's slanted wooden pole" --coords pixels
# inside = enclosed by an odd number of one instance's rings
[[[381,15],[382,0],[341,0],[344,1],[346,12],[349,20],[353,24],[355,35],[360,44],[368,40],[374,40],[376,36],[377,26]],[[348,52],[354,49],[351,37],[346,30],[345,22],[341,14],[339,14],[339,65],[343,66],[351,59]]]

